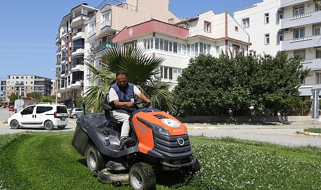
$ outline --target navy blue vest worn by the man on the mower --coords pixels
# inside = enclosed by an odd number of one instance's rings
[[[122,88],[122,87],[119,87],[119,85],[116,82],[113,85],[111,85],[109,89],[111,87],[115,89],[118,95],[119,101],[125,102],[125,101],[132,101],[135,99],[133,83],[127,82],[126,86]],[[110,102],[109,105],[112,106],[113,110],[120,109],[120,107],[115,106],[114,102]]]

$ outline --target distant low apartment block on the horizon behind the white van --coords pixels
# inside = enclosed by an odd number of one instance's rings
[[[51,79],[36,75],[8,75],[8,78],[1,79],[1,97],[4,100],[8,100],[11,93],[26,96],[27,93],[33,91],[39,92],[43,96],[51,94]]]

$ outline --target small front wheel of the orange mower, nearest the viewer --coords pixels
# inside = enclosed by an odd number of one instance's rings
[[[135,163],[129,169],[129,183],[133,189],[155,189],[156,175],[153,167],[144,162]]]

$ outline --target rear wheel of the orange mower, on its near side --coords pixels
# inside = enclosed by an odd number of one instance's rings
[[[95,145],[89,145],[85,154],[87,167],[94,173],[106,167],[104,159]]]

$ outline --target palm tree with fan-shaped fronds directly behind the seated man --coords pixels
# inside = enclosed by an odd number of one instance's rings
[[[101,111],[109,87],[116,82],[116,72],[126,70],[128,82],[134,83],[151,99],[151,107],[172,111],[174,109],[174,95],[169,91],[170,83],[157,80],[159,66],[165,60],[161,57],[152,57],[144,53],[142,48],[127,49],[120,45],[102,53],[102,64],[94,67],[86,63],[93,73],[92,81],[100,80],[98,86],[89,86],[86,97],[82,100],[86,107],[91,107],[95,112]]]

